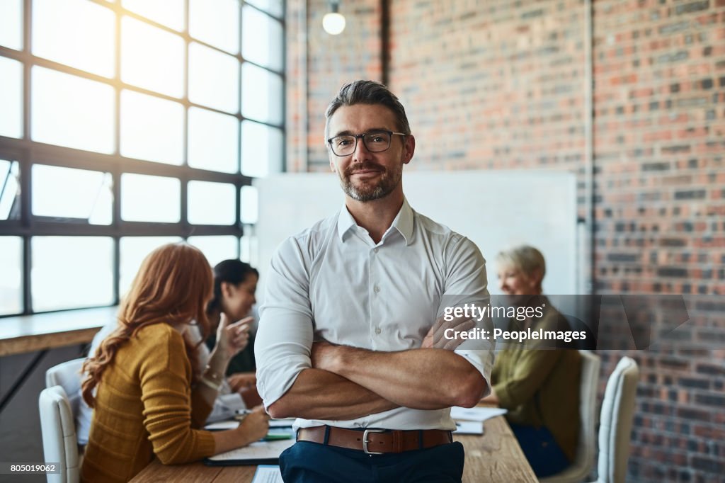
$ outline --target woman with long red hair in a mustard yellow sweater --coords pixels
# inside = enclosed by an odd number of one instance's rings
[[[210,331],[205,309],[211,295],[212,271],[199,249],[167,244],[146,257],[120,306],[117,328],[83,364],[83,399],[94,418],[81,481],[126,482],[154,455],[164,464],[188,463],[266,434],[261,408],[236,429],[195,429],[248,337],[244,322],[221,318],[218,343],[199,368],[199,343],[189,329],[196,324],[202,338]]]

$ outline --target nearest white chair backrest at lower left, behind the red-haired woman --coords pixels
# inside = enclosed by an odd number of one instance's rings
[[[78,442],[70,402],[60,386],[43,389],[38,398],[47,463],[60,463],[60,473],[48,474],[49,483],[75,483],[79,479]]]

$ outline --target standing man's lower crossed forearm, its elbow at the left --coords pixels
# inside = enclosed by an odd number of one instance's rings
[[[268,410],[273,418],[355,419],[397,406],[342,376],[311,368]]]

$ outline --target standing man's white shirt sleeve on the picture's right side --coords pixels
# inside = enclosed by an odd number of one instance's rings
[[[486,278],[486,260],[473,241],[465,236],[457,236],[446,247],[446,286],[442,297],[439,316],[445,307],[463,307],[476,305],[486,307],[491,296]],[[476,321],[476,329],[492,333],[489,315]],[[491,371],[494,366],[494,342],[492,340],[467,340],[455,350],[457,355],[468,360],[486,379],[486,394],[491,388]]]

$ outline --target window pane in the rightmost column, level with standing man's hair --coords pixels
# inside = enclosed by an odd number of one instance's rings
[[[241,66],[241,113],[267,123],[282,123],[282,78],[256,65]]]

